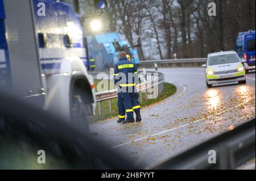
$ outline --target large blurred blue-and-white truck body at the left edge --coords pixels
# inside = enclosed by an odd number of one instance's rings
[[[45,8],[45,15],[39,8]],[[0,89],[89,128],[93,78],[80,16],[56,0],[0,0]]]

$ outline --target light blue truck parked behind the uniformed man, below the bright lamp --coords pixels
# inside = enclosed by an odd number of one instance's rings
[[[94,70],[108,71],[118,62],[118,54],[125,50],[131,61],[139,64],[138,50],[129,41],[122,39],[118,32],[107,32],[87,37],[89,56],[95,60]]]

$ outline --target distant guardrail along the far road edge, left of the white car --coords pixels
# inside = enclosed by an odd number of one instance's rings
[[[170,60],[147,60],[141,61],[140,65],[151,67],[154,64],[163,65],[167,64],[170,66],[201,66],[205,64],[207,58],[183,58],[183,59],[170,59]]]

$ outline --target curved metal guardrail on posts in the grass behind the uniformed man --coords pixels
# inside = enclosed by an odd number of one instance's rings
[[[163,92],[164,74],[158,73],[156,71],[146,71],[146,73],[139,71],[139,74],[143,75],[142,81],[144,81],[137,85],[137,90],[140,94],[141,102],[143,92],[145,93],[147,101],[148,89],[154,89],[154,91],[157,91],[158,94]],[[157,75],[157,77],[155,75]],[[114,98],[117,98],[117,89],[96,93],[96,102],[98,103],[98,111],[100,116],[102,115],[101,102],[104,100],[109,100],[109,112],[112,113],[112,99]]]

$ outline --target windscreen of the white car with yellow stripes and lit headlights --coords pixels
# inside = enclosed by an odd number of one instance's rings
[[[209,57],[208,65],[230,64],[234,62],[239,62],[236,54],[224,54]]]

